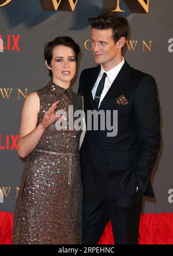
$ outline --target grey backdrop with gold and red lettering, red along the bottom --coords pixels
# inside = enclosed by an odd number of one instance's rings
[[[73,81],[77,92],[81,71],[95,66],[88,17],[108,11],[128,19],[131,30],[123,56],[132,67],[155,77],[160,100],[162,140],[152,174],[156,199],[144,198],[139,243],[173,244],[172,9],[170,0],[0,0],[0,244],[12,244],[24,167],[17,154],[22,104],[28,93],[49,81],[44,44],[67,35],[81,46]],[[99,244],[114,244],[110,222]]]

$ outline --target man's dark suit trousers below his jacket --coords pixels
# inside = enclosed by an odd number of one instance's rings
[[[82,244],[97,244],[111,220],[115,244],[138,244],[142,192],[127,198],[83,200]]]

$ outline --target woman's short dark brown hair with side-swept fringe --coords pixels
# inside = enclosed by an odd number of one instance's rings
[[[73,49],[76,62],[78,61],[78,54],[80,53],[80,46],[69,36],[58,36],[53,41],[44,45],[44,59],[47,60],[47,64],[51,67],[51,60],[53,57],[53,50],[58,45],[65,45]],[[49,70],[49,76],[52,78],[52,71]]]

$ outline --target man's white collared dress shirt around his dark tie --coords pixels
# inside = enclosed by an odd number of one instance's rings
[[[106,76],[106,79],[105,79],[103,91],[102,91],[101,96],[100,96],[99,107],[100,107],[101,101],[106,96],[108,90],[110,89],[112,83],[114,82],[116,76],[118,75],[118,73],[121,70],[124,63],[125,63],[125,59],[122,57],[121,63],[116,65],[114,68],[111,68],[111,70],[109,70],[109,71],[105,71],[103,69],[102,65],[101,65],[101,70],[100,70],[99,76],[97,77],[96,83],[95,83],[95,85],[93,86],[93,89],[92,89],[92,97],[93,97],[93,100],[94,100],[99,82],[100,82],[100,80],[103,76],[103,73],[106,73],[107,76]]]

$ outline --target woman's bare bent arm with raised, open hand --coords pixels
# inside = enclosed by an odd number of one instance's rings
[[[52,104],[46,115],[43,116],[42,121],[36,126],[40,111],[39,96],[36,92],[27,96],[22,107],[20,133],[17,142],[17,152],[21,158],[24,158],[35,149],[47,127],[60,118],[54,115],[58,103],[59,101],[56,101]]]

